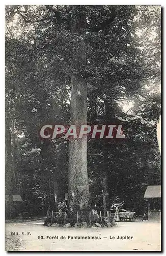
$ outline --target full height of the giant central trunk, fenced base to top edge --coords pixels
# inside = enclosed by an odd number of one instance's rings
[[[81,7],[79,7],[81,8]],[[82,77],[82,65],[86,64],[86,45],[81,30],[86,26],[83,12],[77,15],[73,6],[73,36],[77,38],[73,47],[73,72],[71,77],[71,124],[76,125],[79,136],[81,124],[87,124],[87,84]],[[79,39],[78,39],[79,38]],[[87,136],[69,141],[69,211],[85,210],[89,207],[89,182],[87,172]]]

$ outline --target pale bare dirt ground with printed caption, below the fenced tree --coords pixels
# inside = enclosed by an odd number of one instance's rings
[[[47,226],[43,226],[43,223],[44,223],[43,220],[6,223],[6,250],[7,251],[137,251],[137,250],[160,251],[161,250],[161,239],[160,239],[161,223],[159,221],[117,222],[117,226],[110,227],[110,228],[81,228],[81,229],[47,227]],[[41,237],[42,239],[39,239],[39,236],[40,237],[42,236]],[[61,239],[62,236],[63,236],[63,239]],[[96,239],[94,240],[79,239],[78,240],[78,239],[71,239],[68,236],[70,237],[89,236],[91,238],[98,237],[99,239],[97,240]],[[117,239],[119,238],[118,236],[122,237],[122,239]],[[64,239],[64,237],[66,237],[66,239]],[[115,237],[115,239],[113,237]]]

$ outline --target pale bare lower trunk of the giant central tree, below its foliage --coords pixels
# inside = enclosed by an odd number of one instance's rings
[[[71,124],[79,135],[80,125],[87,123],[87,86],[82,78],[72,77]],[[87,172],[87,136],[69,142],[69,208],[86,209],[89,206]]]

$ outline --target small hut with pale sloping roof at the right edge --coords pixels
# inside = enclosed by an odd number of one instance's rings
[[[161,219],[161,186],[148,186],[144,198],[147,198],[148,219]]]

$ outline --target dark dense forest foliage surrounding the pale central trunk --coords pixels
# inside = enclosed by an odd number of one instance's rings
[[[124,201],[142,213],[147,185],[161,182],[160,12],[6,6],[6,194],[20,194],[33,215],[45,215],[68,193],[69,141],[41,140],[39,131],[71,123],[74,79],[86,86],[87,123],[122,124],[126,135],[88,139],[91,207],[102,208],[106,192],[107,207]]]

